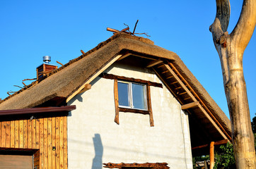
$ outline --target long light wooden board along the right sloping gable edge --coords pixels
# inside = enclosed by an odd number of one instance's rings
[[[175,77],[175,80],[178,81],[178,83],[180,84],[180,86],[185,89],[185,92],[187,92],[187,94],[191,97],[191,99],[194,102],[197,102],[198,100],[194,97],[194,95],[192,94],[192,92],[190,92],[190,89],[187,89],[186,85],[180,80],[180,78],[178,77],[178,75],[176,75],[174,73],[174,71],[170,68],[170,66],[168,64],[164,64],[165,68],[167,68],[170,73],[173,75],[173,77]],[[216,123],[214,122],[214,120],[211,118],[211,116],[204,110],[204,108],[199,104],[198,107],[200,108],[200,110],[202,111],[202,113],[204,113],[205,117],[211,122],[212,125],[214,125],[214,127],[216,128],[216,130],[221,134],[221,136],[224,139],[228,139],[226,137],[226,134],[223,133],[223,131],[220,129],[220,127],[218,125],[216,125]]]

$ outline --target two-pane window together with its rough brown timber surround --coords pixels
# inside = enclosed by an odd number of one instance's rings
[[[119,123],[119,113],[141,113],[149,115],[150,126],[153,127],[150,87],[163,87],[161,83],[134,79],[107,73],[100,77],[114,80],[115,123]]]

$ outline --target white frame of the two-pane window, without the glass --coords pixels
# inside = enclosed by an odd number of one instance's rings
[[[122,82],[122,83],[128,84],[128,101],[129,101],[129,106],[121,106],[119,104],[120,108],[132,108],[132,109],[136,109],[136,110],[148,111],[146,84],[141,84],[141,83],[137,83],[137,82],[127,82],[127,81],[122,81],[122,80],[117,80],[117,83],[118,82]],[[143,86],[143,88],[144,88],[144,105],[145,105],[145,109],[134,108],[133,99],[132,99],[132,84],[139,84],[139,85]]]

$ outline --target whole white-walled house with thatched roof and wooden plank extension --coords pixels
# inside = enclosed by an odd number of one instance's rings
[[[231,141],[221,108],[177,54],[149,39],[117,33],[60,68],[48,65],[0,103],[0,163],[192,168],[211,142]]]

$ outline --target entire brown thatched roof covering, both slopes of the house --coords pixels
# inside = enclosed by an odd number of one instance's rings
[[[192,75],[177,54],[154,45],[149,39],[134,37],[124,33],[110,37],[110,39],[98,44],[98,46],[86,54],[54,70],[44,79],[35,81],[15,94],[8,96],[1,101],[0,110],[32,108],[55,98],[66,99],[88,80],[91,80],[93,75],[98,73],[107,63],[110,63],[120,54],[127,53],[133,56],[143,56],[145,61],[148,62],[161,59],[163,61],[161,64],[165,64],[165,61],[171,63],[173,68],[179,73],[179,76],[184,78],[188,85],[192,87],[194,94],[201,100],[200,103],[205,105],[204,108],[209,110],[206,112],[212,113],[214,118],[216,118],[215,122],[223,127],[224,132],[228,135],[231,134],[230,120],[228,120],[225,113],[221,111],[221,108],[209,96],[204,87],[202,87],[202,84]],[[147,60],[147,58],[149,59]],[[152,68],[159,74],[158,76],[161,76],[161,73],[158,72],[161,71],[159,67],[161,65]],[[161,78],[165,81],[164,76],[161,76]],[[169,89],[173,90],[172,87],[169,87]],[[173,91],[174,94],[175,90]],[[182,103],[182,97],[178,99]],[[182,104],[187,103],[183,101]],[[194,111],[197,110],[194,109]]]

